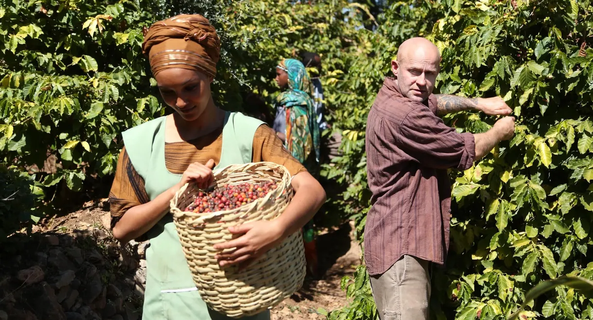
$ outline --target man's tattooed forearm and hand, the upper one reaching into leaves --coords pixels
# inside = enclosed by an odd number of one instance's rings
[[[512,110],[500,97],[466,98],[451,94],[435,94],[439,116],[459,111],[482,111],[490,116],[507,116]]]

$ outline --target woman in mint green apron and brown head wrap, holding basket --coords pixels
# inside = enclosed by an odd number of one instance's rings
[[[307,223],[325,192],[262,121],[216,107],[210,84],[216,75],[220,41],[201,15],[178,15],[153,24],[142,50],[169,116],[122,133],[124,147],[109,194],[113,235],[121,242],[148,238],[142,318],[227,319],[200,299],[183,254],[169,203],[189,181],[208,186],[212,169],[270,161],[293,175],[294,198],[273,221],[230,228],[238,238],[215,245],[234,250],[216,256],[218,266],[246,265]],[[247,317],[269,319],[269,312]]]

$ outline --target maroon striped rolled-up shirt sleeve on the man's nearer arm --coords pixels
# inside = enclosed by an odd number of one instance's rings
[[[474,135],[458,133],[423,105],[404,117],[395,135],[398,147],[426,167],[465,170],[476,159]]]

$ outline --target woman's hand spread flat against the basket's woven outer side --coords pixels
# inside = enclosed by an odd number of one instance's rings
[[[247,267],[269,249],[276,247],[283,238],[283,228],[275,221],[256,221],[234,226],[228,229],[234,235],[241,235],[237,239],[214,245],[217,250],[231,249],[232,251],[216,255],[221,267],[240,263],[240,269]]]

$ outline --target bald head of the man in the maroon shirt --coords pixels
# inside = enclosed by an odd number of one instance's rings
[[[423,103],[435,88],[441,55],[439,49],[424,38],[404,41],[397,50],[397,60],[391,61],[401,95]]]

